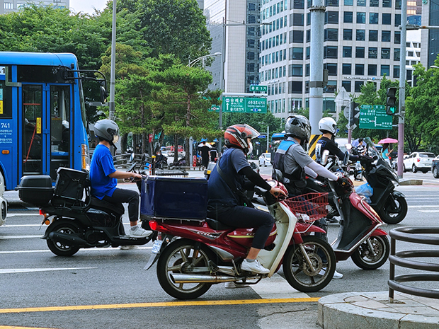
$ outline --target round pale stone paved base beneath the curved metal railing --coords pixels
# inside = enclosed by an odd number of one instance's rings
[[[395,292],[348,292],[319,299],[324,329],[437,329],[439,300]]]

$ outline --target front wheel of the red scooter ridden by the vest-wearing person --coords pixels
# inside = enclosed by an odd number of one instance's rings
[[[371,236],[360,244],[350,258],[363,270],[376,270],[389,258],[390,244],[387,236]]]

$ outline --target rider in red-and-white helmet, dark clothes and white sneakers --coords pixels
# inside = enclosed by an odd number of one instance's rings
[[[232,125],[224,132],[227,149],[208,180],[207,217],[229,226],[257,228],[249,253],[241,263],[241,270],[268,274],[270,270],[263,267],[256,257],[265,246],[274,219],[268,212],[244,205],[249,204],[244,192],[244,175],[251,183],[270,191],[272,195],[285,193],[278,187],[271,187],[253,171],[247,161],[246,156],[253,149],[251,139],[258,136],[256,129],[249,125]]]

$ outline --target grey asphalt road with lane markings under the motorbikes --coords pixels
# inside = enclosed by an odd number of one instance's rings
[[[409,212],[401,224],[385,226],[386,231],[397,226],[439,225],[439,180],[431,173],[405,173],[404,178],[409,175],[429,185],[398,187],[407,197]],[[317,329],[319,297],[387,290],[388,262],[378,270],[365,271],[349,259],[337,266],[343,279],[333,279],[320,292],[295,292],[280,271],[250,288],[224,289],[223,284],[216,284],[196,301],[181,303],[161,289],[155,265],[143,270],[152,243],[135,250],[80,250],[71,258],[61,258],[40,239],[45,230],[40,227],[41,218],[37,209],[16,205],[9,211],[6,226],[0,226],[0,329]],[[124,222],[128,223],[126,217]],[[329,241],[336,238],[338,229],[338,224],[329,225]],[[401,243],[399,248],[413,246]]]

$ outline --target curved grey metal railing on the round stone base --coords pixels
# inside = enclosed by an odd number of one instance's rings
[[[426,235],[428,234],[428,235]],[[439,250],[404,250],[396,252],[397,241],[421,243],[424,245],[439,246],[439,227],[435,226],[405,226],[392,229],[390,235],[390,272],[389,272],[389,301],[394,301],[394,291],[411,294],[414,296],[439,299],[439,291],[435,289],[423,289],[412,287],[401,282],[438,282],[439,275],[432,273],[416,273],[395,276],[395,265],[414,270],[439,272],[439,264],[423,262],[411,258],[439,258]]]

